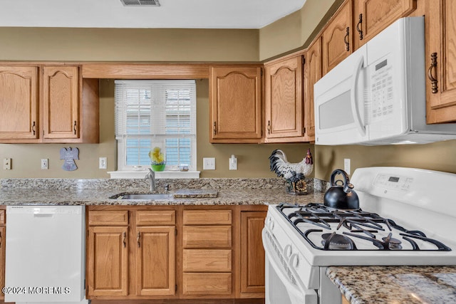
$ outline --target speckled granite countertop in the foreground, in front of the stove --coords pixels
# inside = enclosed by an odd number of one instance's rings
[[[331,266],[326,276],[352,304],[456,303],[456,266]]]

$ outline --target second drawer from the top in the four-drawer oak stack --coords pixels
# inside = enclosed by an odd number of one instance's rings
[[[230,248],[231,226],[184,226],[184,248]]]

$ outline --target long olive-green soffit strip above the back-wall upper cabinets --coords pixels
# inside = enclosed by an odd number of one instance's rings
[[[2,28],[2,61],[258,61],[249,29]]]

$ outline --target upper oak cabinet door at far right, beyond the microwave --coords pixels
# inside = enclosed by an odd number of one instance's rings
[[[425,14],[427,123],[456,121],[456,1],[428,0]]]

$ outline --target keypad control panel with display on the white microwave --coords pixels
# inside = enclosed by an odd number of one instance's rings
[[[388,58],[371,65],[371,122],[384,120],[393,114],[393,67]]]

